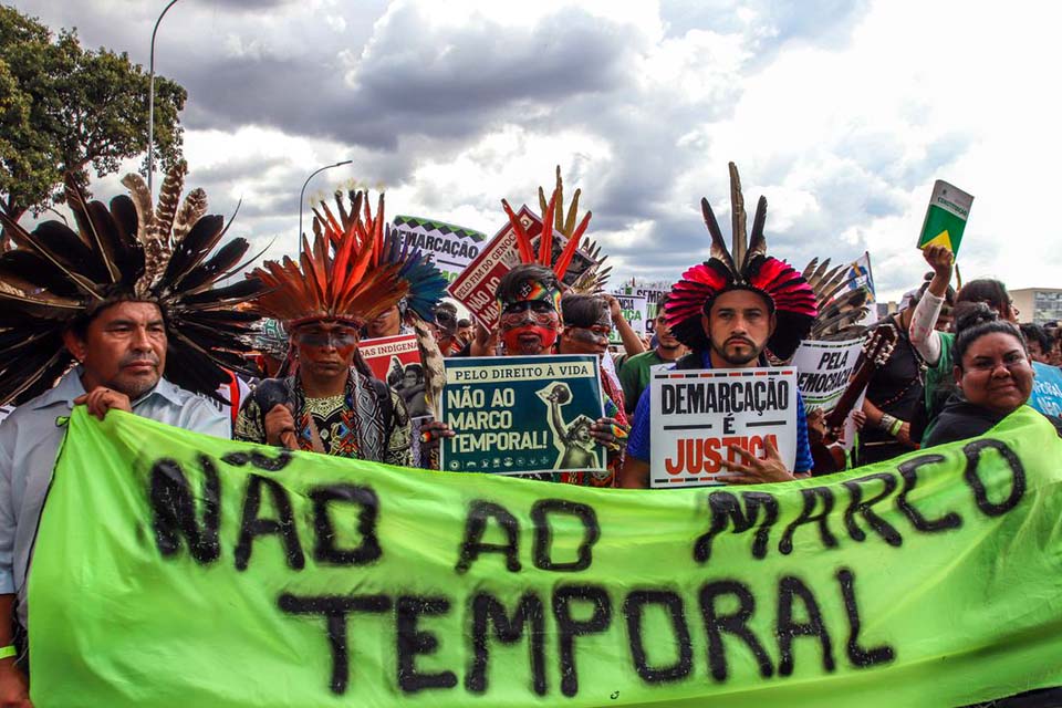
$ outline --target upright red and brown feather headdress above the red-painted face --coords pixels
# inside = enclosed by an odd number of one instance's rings
[[[545,190],[539,187],[539,207],[542,210],[542,229],[535,239],[532,239],[524,228],[517,212],[509,202],[501,200],[517,237],[517,249],[520,262],[524,264],[544,266],[556,274],[558,282],[564,283],[569,290],[592,294],[601,292],[612,268],[603,268],[606,256],[601,254],[601,248],[593,241],[584,240],[583,233],[590,225],[592,214],[587,211],[579,219],[579,198],[581,189],[572,195],[568,214],[564,214],[564,185],[561,180],[561,168],[556,168],[556,186],[549,200]]]

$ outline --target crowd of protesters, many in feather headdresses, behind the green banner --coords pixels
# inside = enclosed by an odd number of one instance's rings
[[[13,633],[0,622],[2,705],[28,697],[25,580],[63,437],[56,420],[73,406],[100,418],[117,409],[206,435],[437,468],[440,440],[455,435],[438,415],[446,357],[587,354],[602,364],[601,415],[555,416],[556,429],[571,467],[584,467],[597,448],[606,464],[534,477],[647,487],[654,367],[787,362],[823,305],[804,274],[767,253],[764,200],[732,250],[705,202],[710,259],[681,275],[646,341],[603,291],[600,261],[576,258],[590,215],[576,223],[573,202],[562,218],[560,178],[541,199],[534,238],[506,205],[517,264],[497,283],[494,323],[461,317],[444,300],[447,283],[431,259],[386,227],[383,197],[372,209],[361,192],[315,209],[313,238],[296,259],[221,284],[242,273],[248,244],[221,243],[227,227],[206,214],[201,191],[178,206],[183,175],[178,166],[167,177],[158,205],[135,177],[126,180],[131,195],[110,206],[71,185],[76,230],[49,221],[30,232],[4,221],[17,248],[0,256],[0,403],[13,406],[0,424],[0,615],[14,620]],[[733,199],[731,210],[743,231],[741,204]],[[1002,283],[975,280],[956,292],[951,253],[928,247],[923,257],[931,277],[899,312],[860,333],[871,340],[889,330],[895,344],[854,413],[860,440],[847,467],[983,434],[1029,400],[1033,361],[1062,363],[1059,327],[1019,326]],[[614,331],[618,356],[610,350]],[[382,381],[360,346],[399,334],[416,336],[420,360]],[[800,396],[795,406],[795,462],[770,442],[762,456],[732,446],[719,481],[833,471],[816,464],[813,448],[835,442],[837,430]],[[414,427],[425,414],[434,419]]]

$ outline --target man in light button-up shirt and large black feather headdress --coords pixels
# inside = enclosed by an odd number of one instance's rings
[[[235,305],[262,284],[214,288],[239,270],[248,243],[210,257],[225,220],[205,214],[201,190],[177,208],[185,169],[167,175],[158,209],[138,176],[124,180],[132,197],[110,207],[67,184],[77,231],[46,221],[30,233],[0,214],[19,247],[0,256],[0,404],[19,404],[0,425],[0,706],[31,705],[27,577],[73,406],[230,437],[204,396],[240,367],[259,316]]]

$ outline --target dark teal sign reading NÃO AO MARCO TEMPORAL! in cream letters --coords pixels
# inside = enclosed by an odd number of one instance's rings
[[[441,442],[450,471],[519,475],[605,470],[590,435],[602,416],[596,356],[446,360]]]

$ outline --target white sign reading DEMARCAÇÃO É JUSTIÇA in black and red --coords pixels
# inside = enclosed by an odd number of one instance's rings
[[[649,486],[720,485],[736,445],[763,458],[771,441],[796,462],[796,369],[721,368],[654,373]]]

